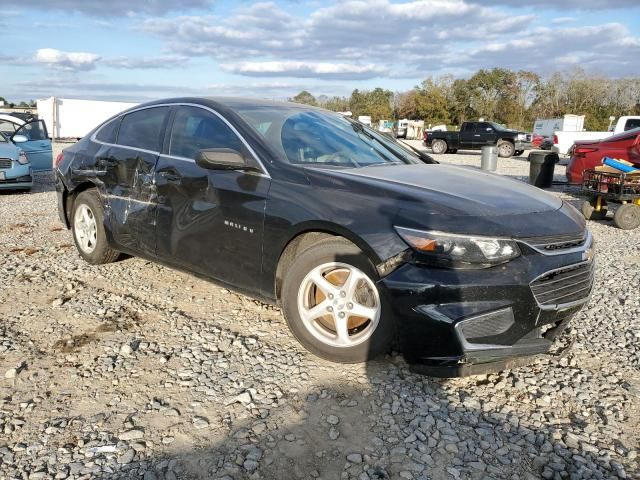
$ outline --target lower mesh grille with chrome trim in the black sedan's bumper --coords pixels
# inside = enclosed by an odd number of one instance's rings
[[[543,308],[579,303],[589,298],[593,272],[593,262],[553,270],[531,282],[531,291]]]

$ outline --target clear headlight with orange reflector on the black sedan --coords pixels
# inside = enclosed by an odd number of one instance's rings
[[[440,267],[487,268],[520,255],[516,242],[507,238],[453,235],[404,227],[395,229],[405,242],[424,255],[424,259]]]

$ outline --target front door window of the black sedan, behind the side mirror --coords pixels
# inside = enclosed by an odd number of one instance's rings
[[[169,155],[195,159],[199,150],[229,148],[243,152],[238,136],[218,116],[198,107],[181,107],[171,130]]]

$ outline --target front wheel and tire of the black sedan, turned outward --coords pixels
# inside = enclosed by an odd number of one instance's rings
[[[289,329],[311,353],[338,363],[386,351],[393,316],[377,272],[355,245],[329,238],[304,250],[287,271],[282,307]]]

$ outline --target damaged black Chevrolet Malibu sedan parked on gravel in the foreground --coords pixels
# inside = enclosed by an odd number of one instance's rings
[[[58,210],[87,262],[124,252],[277,302],[331,361],[367,360],[396,335],[434,375],[547,352],[590,295],[584,217],[422,158],[306,105],[162,100],[64,150]]]

